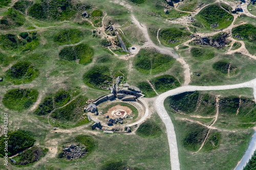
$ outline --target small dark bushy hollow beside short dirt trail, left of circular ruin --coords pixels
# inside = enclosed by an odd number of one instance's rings
[[[51,113],[53,110],[52,96],[47,96],[35,110],[34,114],[41,116]]]

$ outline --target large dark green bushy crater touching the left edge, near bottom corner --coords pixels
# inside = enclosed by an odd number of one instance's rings
[[[32,147],[32,145],[35,142],[35,139],[33,135],[30,132],[18,130],[14,132],[8,132],[8,136],[5,137],[5,135],[0,137],[0,154],[5,155],[5,139],[9,138],[8,141],[8,156],[15,155],[19,153],[20,151],[24,151],[29,147]]]

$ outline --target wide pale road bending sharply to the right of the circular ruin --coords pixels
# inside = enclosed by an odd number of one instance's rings
[[[174,170],[180,169],[179,154],[178,154],[178,147],[177,147],[177,140],[176,140],[174,126],[173,126],[172,120],[170,119],[168,113],[164,108],[164,100],[170,95],[176,95],[186,91],[227,90],[227,89],[236,89],[236,88],[244,88],[244,87],[253,88],[254,99],[256,99],[256,79],[253,79],[245,83],[223,85],[223,86],[183,86],[173,90],[166,91],[158,96],[158,98],[155,101],[155,108],[166,127],[169,150],[170,150],[170,164],[172,166],[172,169]],[[256,144],[254,144],[250,150],[254,151],[255,149],[256,149]],[[243,165],[244,162],[245,161],[241,161],[240,166],[242,167],[245,166]]]

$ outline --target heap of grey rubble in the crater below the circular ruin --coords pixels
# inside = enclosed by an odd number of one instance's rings
[[[86,148],[79,145],[79,143],[77,145],[70,144],[69,146],[62,146],[62,148],[63,152],[60,155],[66,156],[66,158],[69,160],[84,157],[88,153]]]

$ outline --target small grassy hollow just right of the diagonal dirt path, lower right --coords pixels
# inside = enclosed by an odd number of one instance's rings
[[[202,150],[208,151],[208,152],[212,150],[216,150],[220,147],[220,142],[221,142],[221,133],[218,131],[215,131],[215,132],[210,131]]]

